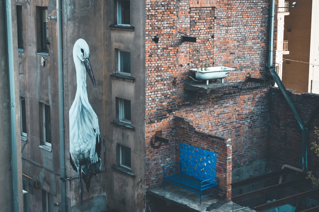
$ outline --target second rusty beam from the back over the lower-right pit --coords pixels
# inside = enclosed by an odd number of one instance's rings
[[[246,200],[246,199],[258,196],[258,195],[263,195],[263,194],[266,194],[266,193],[269,193],[272,191],[276,191],[278,189],[286,188],[289,186],[294,186],[294,185],[297,185],[297,184],[300,184],[300,183],[303,183],[306,181],[307,181],[306,178],[301,178],[298,180],[293,180],[293,181],[289,181],[289,182],[284,182],[284,183],[268,186],[268,187],[261,188],[261,189],[255,190],[255,191],[251,191],[251,192],[246,193],[246,194],[234,196],[234,197],[232,197],[232,201],[239,202],[241,200]]]

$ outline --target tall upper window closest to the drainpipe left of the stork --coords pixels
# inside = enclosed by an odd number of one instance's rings
[[[49,52],[48,10],[46,7],[38,7],[37,12],[39,17],[38,26],[40,29],[38,34],[38,38],[40,38],[38,41],[38,51]]]

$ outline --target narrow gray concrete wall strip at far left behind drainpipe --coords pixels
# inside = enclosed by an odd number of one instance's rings
[[[0,1],[0,120],[3,124],[0,127],[0,187],[3,188],[0,194],[0,208],[2,211],[13,211],[13,187],[12,187],[12,154],[11,154],[11,131],[10,131],[10,91],[9,91],[9,67],[8,67],[8,51],[6,40],[6,18],[5,18],[5,1]],[[16,17],[15,5],[8,5],[11,7],[11,13],[13,17]],[[17,25],[16,18],[12,19],[12,36],[14,44],[14,52],[17,48]],[[12,38],[10,38],[12,39]],[[16,128],[17,141],[20,140],[20,110],[19,110],[19,81],[18,81],[18,69],[17,69],[17,54],[14,55],[14,83],[15,83],[15,105],[16,105]],[[22,196],[22,173],[21,173],[21,144],[17,142],[17,177],[18,177],[18,203],[19,211],[23,211],[23,196]]]

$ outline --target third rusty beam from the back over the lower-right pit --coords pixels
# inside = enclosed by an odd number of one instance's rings
[[[305,192],[301,192],[299,194],[287,196],[285,198],[282,198],[282,199],[279,199],[276,201],[272,201],[272,202],[268,202],[268,203],[265,203],[262,205],[258,205],[256,207],[254,207],[253,209],[256,211],[263,211],[266,209],[275,208],[275,207],[278,207],[281,205],[288,204],[290,202],[294,202],[294,201],[299,200],[299,199],[306,198],[306,197],[311,196],[311,195],[318,194],[318,192],[319,192],[319,188],[314,188],[314,189],[311,189],[311,190],[308,190]]]

